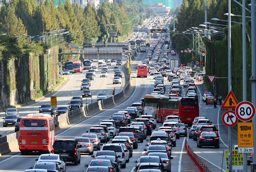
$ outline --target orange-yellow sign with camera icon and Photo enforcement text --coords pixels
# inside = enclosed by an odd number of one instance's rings
[[[237,123],[238,150],[243,147],[253,147],[253,122]]]

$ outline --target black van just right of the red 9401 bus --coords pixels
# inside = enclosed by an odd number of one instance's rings
[[[77,166],[81,162],[80,150],[82,145],[78,145],[78,141],[74,139],[69,140],[55,140],[53,144],[54,154],[61,155],[67,162],[75,163]]]

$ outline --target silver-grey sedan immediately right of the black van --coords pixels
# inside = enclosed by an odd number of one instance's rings
[[[78,144],[82,147],[79,148],[81,153],[89,153],[89,155],[93,154],[93,142],[88,137],[75,137],[75,140],[78,141]]]

